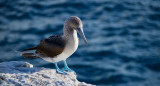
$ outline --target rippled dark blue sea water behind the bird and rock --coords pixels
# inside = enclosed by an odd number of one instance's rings
[[[78,80],[104,86],[160,86],[160,0],[0,0],[0,62],[42,59],[15,52],[63,34],[69,16],[82,19],[82,39],[67,60]],[[59,64],[61,67],[62,63]]]

